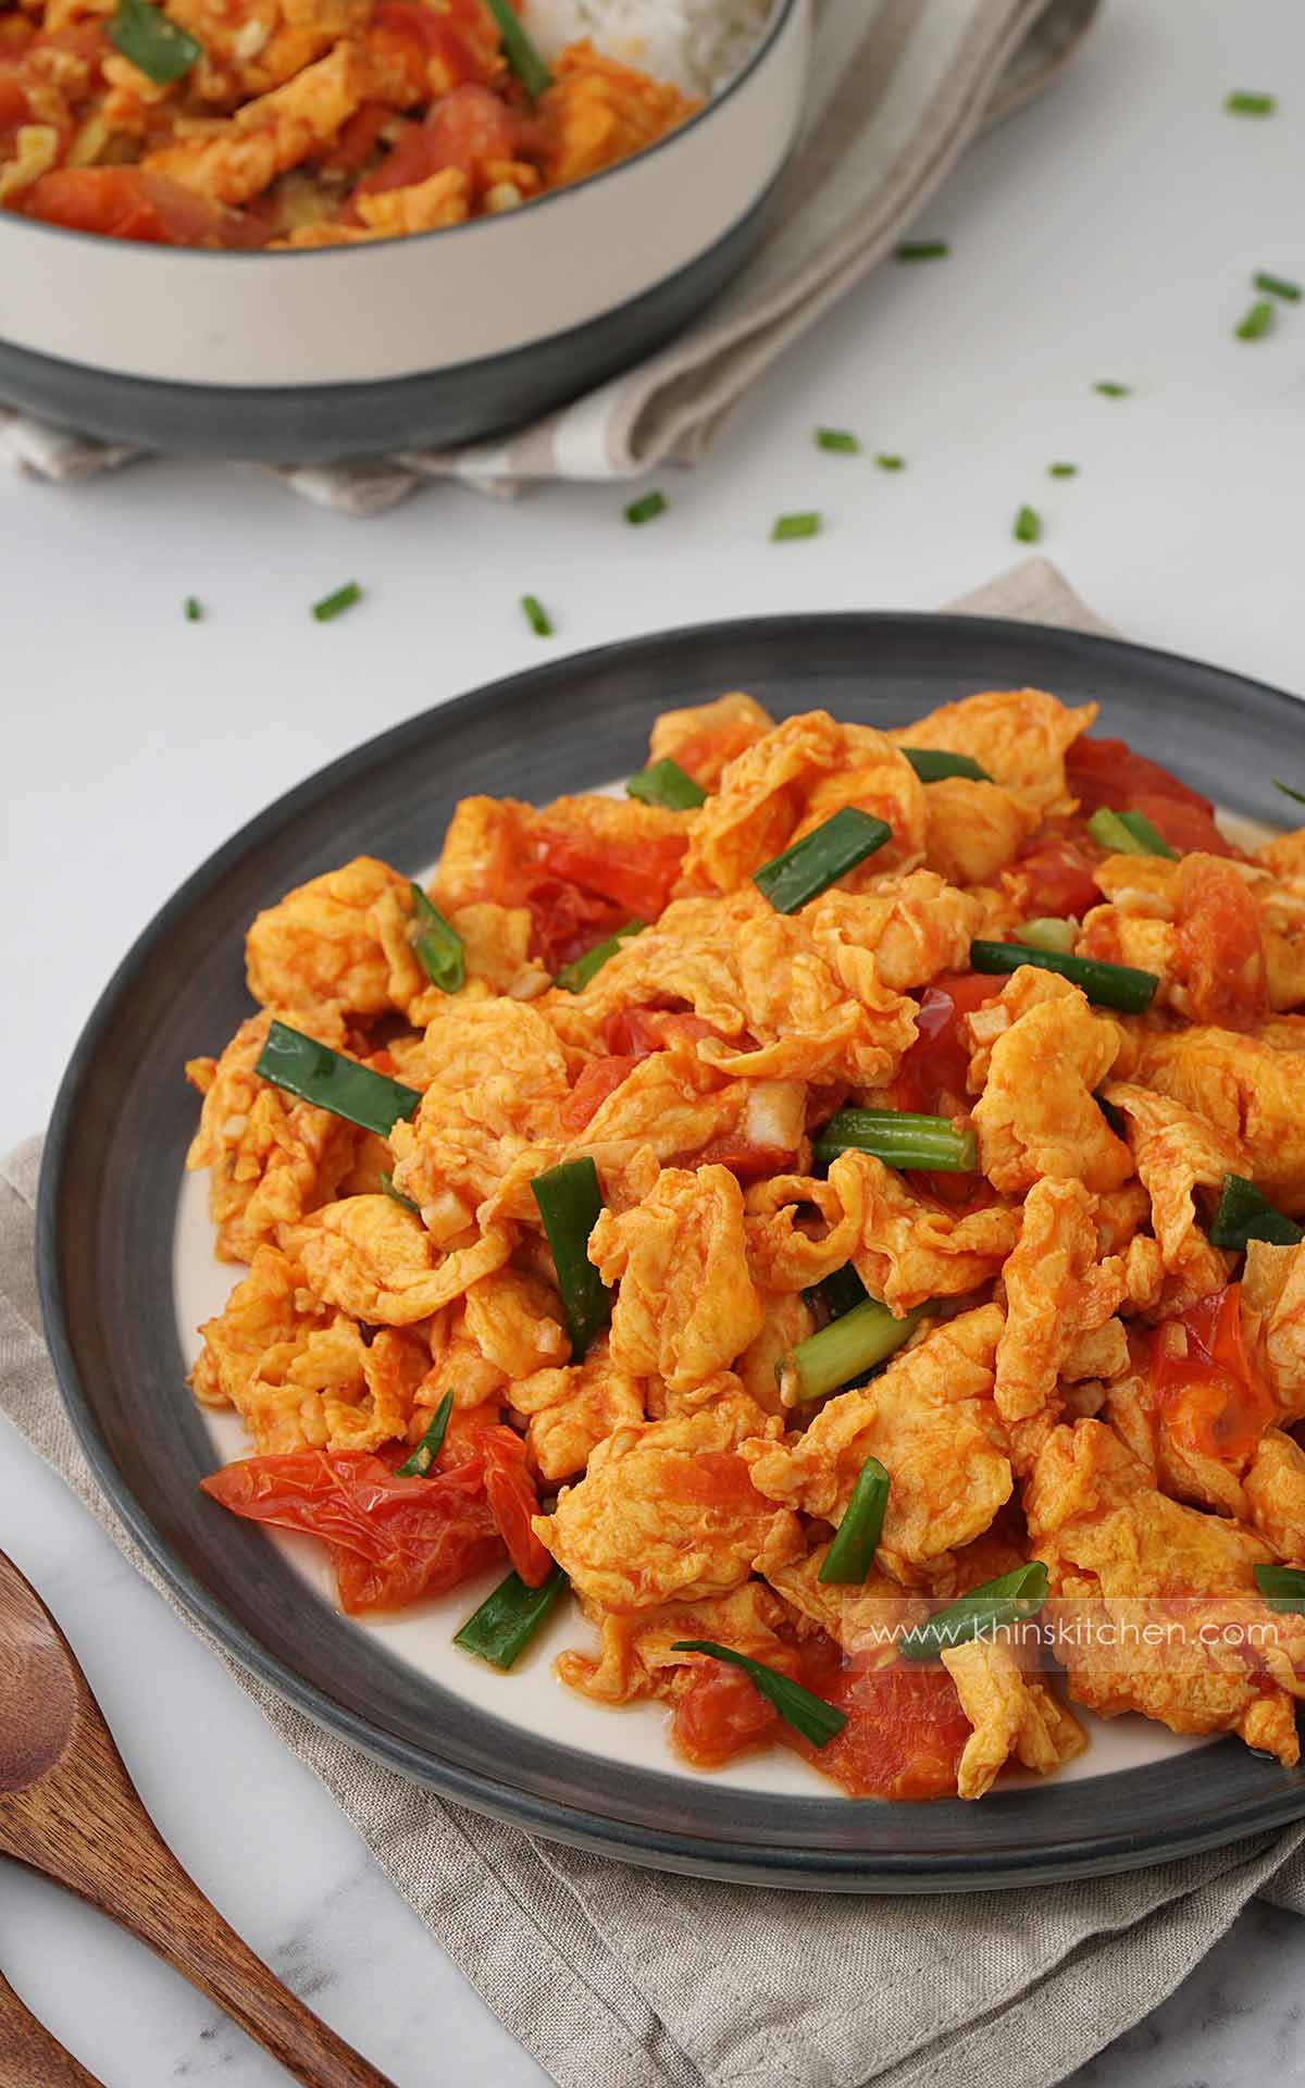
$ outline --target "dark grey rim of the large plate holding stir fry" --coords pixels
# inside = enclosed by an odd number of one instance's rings
[[[248,1000],[244,927],[288,885],[367,852],[418,869],[457,798],[537,800],[643,762],[658,710],[750,689],[898,725],[975,689],[1096,697],[1130,739],[1232,810],[1280,823],[1301,777],[1292,697],[1138,645],[960,616],[785,616],[608,645],[516,674],[332,762],[255,818],[150,923],[67,1069],[42,1171],[40,1284],[86,1453],[192,1616],[322,1725],[449,1798],[668,1871],[839,1892],[965,1892],[1161,1862],[1305,1812],[1305,1777],[1221,1741],[979,1806],[777,1800],[626,1769],[487,1716],[317,1601],[196,1491],[213,1455],[184,1386],[171,1221],[194,1098],[180,1067]],[[505,1685],[507,1687],[507,1685]],[[620,1748],[618,1721],[612,1729]]]

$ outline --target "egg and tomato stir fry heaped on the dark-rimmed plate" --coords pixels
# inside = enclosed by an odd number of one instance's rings
[[[975,1798],[1069,1704],[1295,1762],[1305,831],[1094,716],[727,695],[624,802],[261,912],[188,1067],[248,1263],[192,1384],[257,1449],[207,1491],[349,1612],[509,1564],[501,1666],[570,1585],[562,1681],[697,1764]]]

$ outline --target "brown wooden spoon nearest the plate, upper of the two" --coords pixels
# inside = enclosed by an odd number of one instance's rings
[[[305,2088],[395,2088],[267,1971],[182,1869],[123,1769],[77,1656],[2,1551],[0,1854],[121,1921]],[[90,2080],[79,2069],[67,2078]]]

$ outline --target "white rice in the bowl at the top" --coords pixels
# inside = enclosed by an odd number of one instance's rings
[[[587,35],[597,50],[674,79],[687,94],[718,94],[756,48],[775,0],[526,0],[526,27],[553,58]]]

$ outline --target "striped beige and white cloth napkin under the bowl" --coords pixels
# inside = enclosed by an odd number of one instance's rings
[[[764,370],[883,259],[965,146],[1038,94],[1100,0],[821,0],[804,138],[764,244],[668,349],[505,443],[370,464],[288,466],[284,482],[376,514],[430,478],[512,491],[695,464]],[[0,407],[0,455],[73,480],[134,451]]]

